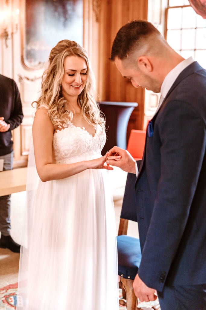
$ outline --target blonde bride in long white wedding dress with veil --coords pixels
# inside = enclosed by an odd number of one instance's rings
[[[105,124],[93,84],[86,51],[58,42],[32,127],[39,179],[27,186],[17,310],[119,309],[113,168],[101,156]]]

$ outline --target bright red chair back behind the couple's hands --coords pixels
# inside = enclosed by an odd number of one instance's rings
[[[132,129],[129,135],[127,151],[135,160],[142,159],[145,148],[145,130]]]

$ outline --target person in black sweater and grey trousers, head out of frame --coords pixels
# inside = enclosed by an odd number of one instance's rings
[[[3,170],[13,168],[13,141],[11,131],[18,127],[23,119],[22,103],[15,81],[0,74],[0,160]],[[1,172],[0,172],[1,174]],[[20,252],[20,245],[10,235],[11,195],[0,197],[0,247]]]

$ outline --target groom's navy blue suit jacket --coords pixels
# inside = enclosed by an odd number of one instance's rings
[[[135,184],[139,277],[159,291],[206,283],[206,70],[197,62],[179,74],[152,127]]]

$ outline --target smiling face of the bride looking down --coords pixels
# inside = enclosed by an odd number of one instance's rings
[[[82,57],[67,56],[64,62],[64,75],[61,81],[62,93],[78,96],[86,85],[87,65]]]

